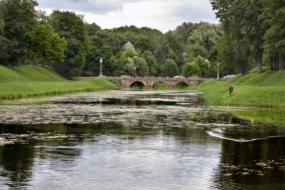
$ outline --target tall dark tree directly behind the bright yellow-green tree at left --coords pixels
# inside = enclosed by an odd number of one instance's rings
[[[90,44],[83,15],[76,15],[72,11],[54,10],[51,17],[54,30],[68,42],[64,62],[56,62],[53,67],[60,73],[79,76]]]

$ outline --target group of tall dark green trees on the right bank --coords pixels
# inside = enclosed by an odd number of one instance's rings
[[[210,52],[210,61],[248,74],[250,62],[284,70],[284,0],[210,0],[224,35]]]

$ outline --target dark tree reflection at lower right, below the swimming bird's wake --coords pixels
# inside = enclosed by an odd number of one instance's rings
[[[284,189],[284,144],[285,137],[242,143],[222,140],[213,183],[218,189]]]

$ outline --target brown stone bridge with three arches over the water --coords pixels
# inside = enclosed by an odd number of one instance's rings
[[[198,77],[188,77],[188,78],[173,78],[173,77],[132,77],[129,75],[121,75],[121,77],[116,77],[117,80],[123,84],[124,87],[131,87],[134,82],[142,82],[145,87],[152,88],[157,82],[163,82],[168,88],[174,88],[179,82],[184,82],[188,86],[195,86],[198,84],[202,78]]]

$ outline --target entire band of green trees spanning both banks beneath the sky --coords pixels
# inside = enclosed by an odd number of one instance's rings
[[[0,63],[52,65],[59,73],[216,77],[268,64],[284,69],[284,1],[211,0],[220,23],[184,22],[164,34],[148,27],[101,29],[83,15],[36,10],[33,0],[0,1]],[[282,8],[283,7],[283,8]]]

